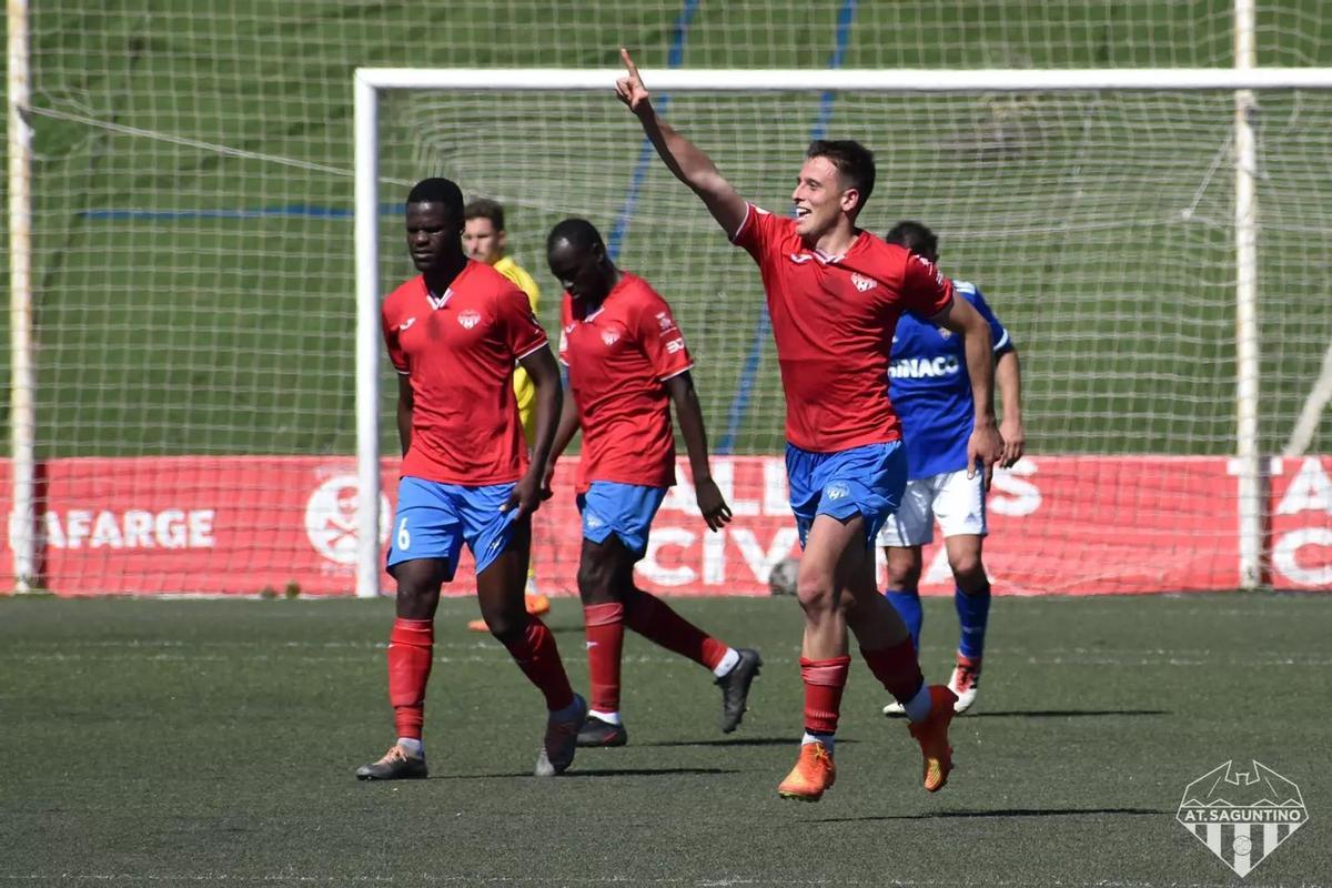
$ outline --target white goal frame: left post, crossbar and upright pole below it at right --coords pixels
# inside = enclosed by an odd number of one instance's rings
[[[1244,3],[1244,0],[1240,0]],[[1332,68],[1256,68],[1252,41],[1236,40],[1235,68],[1136,68],[1068,71],[650,71],[658,92],[823,92],[884,95],[1071,91],[1235,92],[1235,301],[1236,426],[1239,475],[1240,584],[1263,578],[1263,495],[1259,453],[1257,224],[1253,91],[1329,89]],[[378,282],[378,100],[386,89],[490,92],[599,92],[613,101],[618,68],[601,69],[424,69],[360,68],[356,91],[356,411],[358,497],[357,595],[380,592],[380,282]],[[626,148],[627,150],[627,148]]]

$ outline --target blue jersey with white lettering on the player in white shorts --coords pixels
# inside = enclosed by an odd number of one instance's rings
[[[954,281],[952,286],[990,322],[995,357],[1011,350],[1008,330],[980,290],[966,281]],[[902,419],[908,478],[931,478],[967,467],[975,410],[960,337],[914,314],[903,314],[892,335],[888,394]]]

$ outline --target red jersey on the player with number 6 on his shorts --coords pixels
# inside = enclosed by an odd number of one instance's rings
[[[485,262],[469,261],[442,294],[417,276],[384,301],[384,341],[416,405],[402,474],[472,487],[518,481],[527,449],[513,367],[546,345],[526,294]]]

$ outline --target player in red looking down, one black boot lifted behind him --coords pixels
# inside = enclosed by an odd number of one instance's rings
[[[591,222],[569,218],[546,241],[550,272],[565,288],[559,359],[569,390],[553,454],[583,430],[578,461],[582,556],[578,594],[587,627],[591,708],[578,746],[623,746],[619,655],[625,627],[713,671],[722,688],[722,731],[739,726],[758,651],[706,635],[665,602],[634,586],[653,517],[675,483],[675,403],[689,449],[698,509],[710,529],[731,519],[707,465],[707,433],[694,393],[694,362],[666,300],[615,268]],[[554,459],[551,459],[551,465]]]

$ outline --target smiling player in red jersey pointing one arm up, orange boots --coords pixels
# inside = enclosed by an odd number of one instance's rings
[[[874,675],[906,708],[924,756],[924,788],[952,768],[954,694],[924,684],[902,618],[878,594],[872,541],[902,502],[906,454],[888,402],[888,353],[902,312],[964,337],[975,390],[971,470],[990,479],[1002,442],[992,405],[990,330],[934,265],[855,226],[874,188],[874,156],[852,141],[817,141],[801,166],[794,218],[747,204],[689,140],[658,120],[629,53],[615,84],[666,166],[690,186],[731,240],[758,262],[786,390],[786,466],[805,558],[801,674],[805,736],[778,787],[817,801],[832,785],[832,739],[850,656],[847,628]]]

